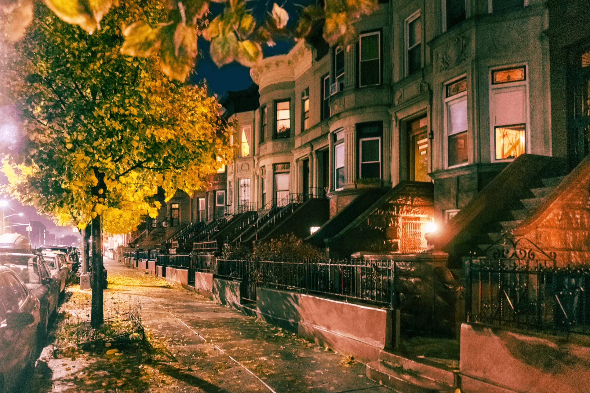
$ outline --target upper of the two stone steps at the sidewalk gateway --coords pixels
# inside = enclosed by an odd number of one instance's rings
[[[379,361],[388,363],[390,366],[399,365],[404,369],[417,372],[425,378],[440,381],[449,386],[454,386],[456,382],[455,374],[458,372],[458,365],[453,368],[438,362],[432,362],[427,358],[408,359],[386,351],[379,352]]]

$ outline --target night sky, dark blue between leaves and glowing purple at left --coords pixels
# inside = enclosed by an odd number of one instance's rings
[[[312,1],[313,0],[304,0],[298,4],[309,4]],[[301,9],[301,6],[293,3],[292,1],[287,1],[283,4],[278,4],[283,5],[287,12],[289,12],[289,26],[293,25],[294,19],[296,18],[297,10]],[[266,10],[271,10],[273,8],[273,2],[270,1],[264,2],[255,0],[248,2],[248,5],[253,6],[254,14],[258,20],[261,20],[263,18],[263,15],[265,14]],[[216,4],[214,2],[211,2],[212,15],[218,15],[222,11],[222,8],[222,4]],[[264,57],[288,53],[289,50],[293,48],[294,44],[295,42],[293,40],[276,40],[276,45],[274,47],[267,47],[266,45],[263,45]],[[209,91],[217,94],[219,99],[221,99],[221,97],[223,97],[228,90],[244,90],[250,87],[250,85],[253,83],[252,78],[250,78],[250,68],[241,66],[240,64],[235,62],[227,64],[224,67],[218,68],[209,56],[209,42],[199,37],[198,47],[199,54],[201,54],[201,58],[199,59],[198,64],[196,65],[195,71],[189,78],[189,83],[201,83],[203,80],[206,80],[209,87]],[[11,116],[7,116],[11,112],[12,111],[9,107],[0,107],[0,135],[5,135],[6,133],[8,133],[9,129],[17,127],[17,124],[11,120]],[[4,173],[0,172],[0,183],[6,184],[6,181],[6,176],[4,175]],[[24,214],[22,217],[14,216],[8,219],[12,220],[15,223],[28,224],[29,221],[41,221],[45,225],[45,227],[47,227],[47,230],[50,233],[55,234],[56,238],[62,237],[64,235],[73,234],[72,228],[57,227],[57,225],[55,225],[53,221],[38,215],[34,207],[23,207],[21,204],[19,204],[18,201],[15,201],[14,199],[9,200],[9,207],[10,208],[6,208],[6,215],[20,212]],[[22,228],[25,227],[22,226]],[[23,234],[27,233],[24,229],[18,232]]]

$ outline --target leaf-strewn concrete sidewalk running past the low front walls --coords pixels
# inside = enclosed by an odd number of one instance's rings
[[[109,277],[143,276],[113,260],[104,264]],[[139,370],[110,369],[117,353],[47,359],[38,362],[35,393],[391,392],[366,378],[362,363],[179,287],[117,285],[104,292],[123,294],[139,297],[143,325],[168,355],[155,362],[122,350],[120,359],[140,363]],[[42,383],[47,378],[53,388]]]

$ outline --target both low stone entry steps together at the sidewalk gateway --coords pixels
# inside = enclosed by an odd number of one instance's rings
[[[367,378],[399,393],[449,393],[459,387],[458,369],[430,365],[381,351],[366,365]]]

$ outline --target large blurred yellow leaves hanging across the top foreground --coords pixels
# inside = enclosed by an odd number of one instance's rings
[[[63,21],[79,25],[92,34],[100,30],[102,19],[123,0],[41,0]],[[209,20],[209,3],[225,4],[225,9]],[[358,40],[354,22],[377,8],[378,0],[324,0],[301,9],[296,23],[277,3],[257,20],[245,0],[152,0],[166,4],[165,21],[155,23],[137,15],[123,31],[121,52],[133,56],[159,54],[162,71],[170,78],[185,81],[195,67],[196,42],[201,36],[211,41],[211,58],[221,67],[236,60],[252,67],[263,57],[262,45],[273,45],[276,37],[301,40],[312,28],[323,24],[323,37],[331,45],[348,48]],[[270,2],[267,2],[267,7]],[[7,37],[19,40],[33,20],[34,0],[0,0],[0,15],[8,19]],[[259,18],[260,19],[260,18]]]

